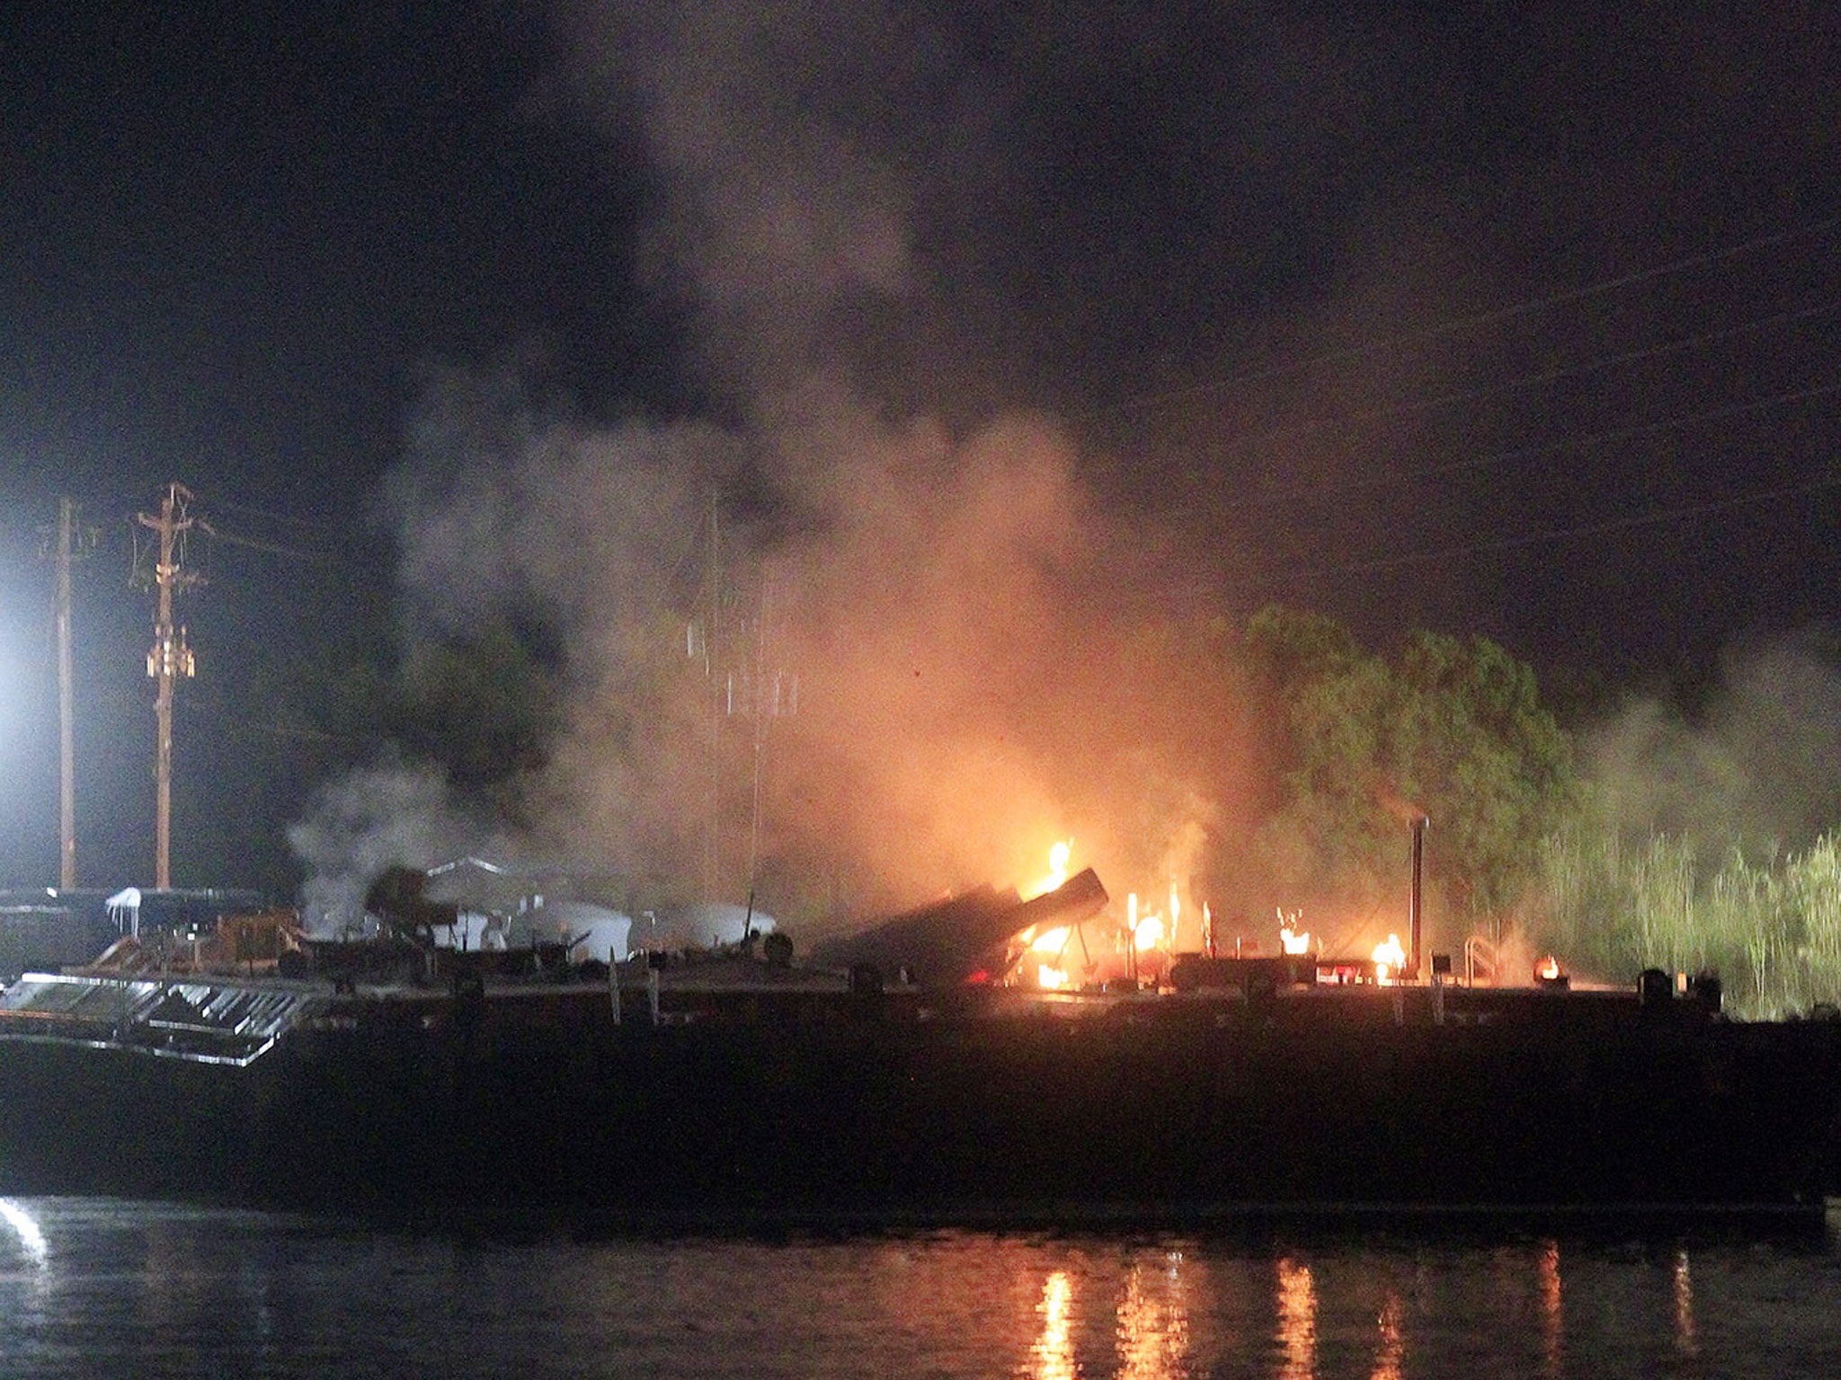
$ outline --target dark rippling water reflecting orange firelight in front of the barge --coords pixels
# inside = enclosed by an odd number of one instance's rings
[[[385,1229],[0,1200],[6,1376],[1841,1374],[1837,1222]]]

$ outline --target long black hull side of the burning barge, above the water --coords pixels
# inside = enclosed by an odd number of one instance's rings
[[[0,1192],[604,1220],[1821,1211],[1837,1073],[1835,1025],[1587,997],[617,1023],[593,986],[442,994],[322,1012],[247,1064],[0,1040]]]

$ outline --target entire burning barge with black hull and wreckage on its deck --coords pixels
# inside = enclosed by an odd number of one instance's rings
[[[1760,1209],[1835,1190],[1841,1027],[1712,981],[1526,988],[1316,953],[1009,986],[1106,905],[983,889],[793,962],[784,935],[458,953],[232,916],[0,1001],[0,1192],[657,1220],[1193,1220]],[[451,907],[449,907],[451,909]],[[1414,918],[1418,907],[1414,907]]]

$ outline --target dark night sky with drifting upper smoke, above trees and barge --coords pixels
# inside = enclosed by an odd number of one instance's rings
[[[1714,9],[7,7],[0,881],[57,870],[59,495],[94,885],[151,874],[127,578],[169,480],[217,534],[186,885],[287,878],[317,773],[385,751],[276,677],[337,686],[361,609],[534,594],[593,640],[639,543],[696,537],[685,447],[755,550],[1020,466],[1106,626],[1287,600],[1580,703],[1832,627],[1841,18]],[[602,550],[556,504],[646,521]]]

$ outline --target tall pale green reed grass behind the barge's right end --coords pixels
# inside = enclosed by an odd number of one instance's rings
[[[1570,830],[1546,841],[1528,938],[1605,981],[1716,970],[1725,1006],[1782,1019],[1841,1003],[1841,835],[1800,854],[1719,859],[1655,835]]]

